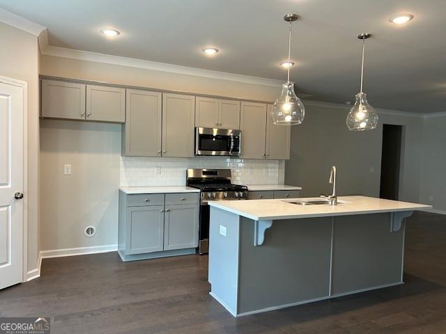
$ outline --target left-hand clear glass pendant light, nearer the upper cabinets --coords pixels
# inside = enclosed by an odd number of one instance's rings
[[[287,14],[284,20],[289,22],[288,63],[291,64],[291,23],[298,19],[297,14]],[[305,118],[305,107],[294,93],[294,83],[290,81],[290,67],[288,77],[282,86],[282,93],[277,97],[271,110],[271,119],[275,125],[299,125]]]

